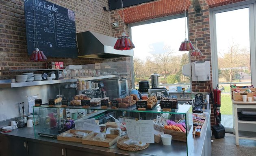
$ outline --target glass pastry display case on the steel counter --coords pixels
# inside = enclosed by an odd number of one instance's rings
[[[83,101],[84,102],[84,101]],[[115,102],[101,101],[99,106],[63,106],[56,104],[54,106],[41,105],[34,106],[34,115],[39,115],[39,124],[35,125],[35,137],[53,137],[58,138],[61,136],[62,140],[72,141],[79,140],[81,144],[113,147],[116,150],[123,149],[124,137],[129,136],[127,121],[152,122],[152,129],[133,125],[136,129],[135,136],[144,131],[145,134],[139,134],[138,138],[145,137],[148,139],[153,135],[153,143],[146,143],[145,147],[139,148],[140,150],[132,150],[137,154],[145,155],[166,155],[181,154],[189,156],[193,149],[193,117],[191,105],[179,105],[178,109],[171,109],[171,111],[163,111],[157,103],[154,108],[146,108],[139,111],[136,104],[128,108],[118,108]],[[81,115],[83,114],[83,115]],[[90,128],[84,124],[86,120],[91,120],[95,123]],[[128,120],[129,119],[129,120]],[[89,122],[89,121],[88,121]],[[67,124],[70,123],[70,124]],[[165,125],[164,125],[165,124]],[[90,123],[88,124],[90,125]],[[98,132],[96,129],[98,127]],[[96,129],[95,129],[96,128]],[[69,139],[68,136],[73,132],[88,131],[88,137],[81,137],[80,139]],[[92,132],[94,131],[94,132]],[[99,133],[106,134],[106,141],[95,140]],[[171,145],[163,145],[161,141],[161,134],[171,134]],[[67,136],[65,138],[65,136]],[[69,136],[72,137],[72,136]],[[74,136],[73,136],[74,137]],[[63,139],[64,138],[64,139]],[[145,140],[145,138],[142,138]],[[152,139],[152,138],[151,138]],[[81,142],[82,141],[82,142]],[[122,145],[118,144],[122,142]],[[92,144],[90,144],[92,143]],[[124,148],[129,150],[130,148]]]

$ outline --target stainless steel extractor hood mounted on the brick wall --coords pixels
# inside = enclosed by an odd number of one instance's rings
[[[86,31],[76,34],[78,42],[78,57],[87,58],[117,58],[133,56],[133,50],[115,50],[117,38]]]

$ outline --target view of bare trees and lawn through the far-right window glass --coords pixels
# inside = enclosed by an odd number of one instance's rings
[[[230,85],[251,85],[249,9],[215,14],[216,41],[221,89],[221,122],[232,121]],[[226,121],[227,122],[227,121]],[[224,125],[227,127],[227,125]],[[232,125],[229,125],[232,128]]]

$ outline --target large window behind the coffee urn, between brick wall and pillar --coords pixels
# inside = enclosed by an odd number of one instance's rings
[[[190,78],[182,75],[182,66],[190,63],[189,52],[178,51],[185,31],[188,38],[187,17],[163,17],[130,24],[129,28],[135,44],[135,87],[140,80],[150,80],[150,75],[156,73],[160,75],[160,87],[176,91],[176,86],[184,86],[189,91]]]

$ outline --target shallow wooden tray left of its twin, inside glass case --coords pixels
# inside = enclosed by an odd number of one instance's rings
[[[82,142],[82,138],[78,138],[78,137],[65,137],[65,135],[67,135],[69,133],[74,133],[76,131],[88,133],[87,137],[89,137],[89,136],[92,137],[93,136],[93,131],[91,131],[91,130],[68,130],[66,132],[63,132],[63,133],[59,134],[58,137],[57,137],[57,140],[73,141],[73,142],[81,143]]]

